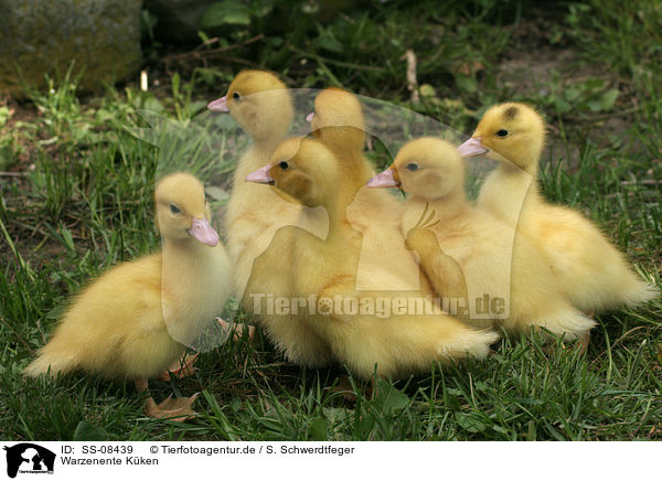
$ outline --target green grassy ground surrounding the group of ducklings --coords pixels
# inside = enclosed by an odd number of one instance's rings
[[[157,398],[172,388],[204,393],[201,416],[185,424],[145,418],[130,383],[20,375],[71,292],[158,247],[151,193],[159,156],[125,129],[127,119],[140,108],[186,119],[246,63],[284,73],[291,86],[341,84],[395,100],[467,133],[494,101],[535,103],[552,132],[545,194],[597,222],[660,285],[660,4],[434,6],[357,9],[267,35],[225,58],[167,56],[148,66],[160,81],[150,93],[129,84],[83,94],[64,79],[29,101],[0,104],[0,438],[662,439],[660,300],[597,317],[584,355],[544,350],[535,336],[505,338],[485,361],[381,381],[373,399],[360,384],[355,400],[328,388],[342,366],[300,370],[260,336],[255,345],[228,342],[202,355],[193,377],[153,383]],[[406,89],[406,49],[417,54],[426,85],[416,105]],[[185,148],[209,154],[202,143]],[[218,169],[227,174],[232,164]]]

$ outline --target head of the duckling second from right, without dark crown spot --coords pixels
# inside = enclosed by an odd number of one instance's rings
[[[403,146],[393,164],[372,178],[369,188],[402,186],[428,200],[463,192],[465,162],[457,149],[435,137],[423,137]]]

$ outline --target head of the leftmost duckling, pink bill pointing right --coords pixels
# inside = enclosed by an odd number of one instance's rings
[[[190,173],[175,172],[157,184],[157,224],[161,235],[171,242],[195,239],[209,246],[218,243],[218,234],[210,225],[204,186]]]

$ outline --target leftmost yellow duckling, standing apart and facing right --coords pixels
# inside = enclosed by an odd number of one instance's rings
[[[231,263],[210,225],[204,189],[193,175],[177,172],[156,188],[160,253],[117,265],[72,302],[55,333],[25,368],[29,376],[82,370],[134,380],[139,392],[148,378],[179,359],[214,321],[232,292]],[[149,397],[146,414],[183,420],[195,400]]]

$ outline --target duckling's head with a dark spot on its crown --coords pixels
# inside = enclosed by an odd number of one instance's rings
[[[531,106],[509,101],[491,107],[471,139],[458,150],[463,157],[487,153],[490,159],[512,162],[535,173],[545,146],[545,121]]]

